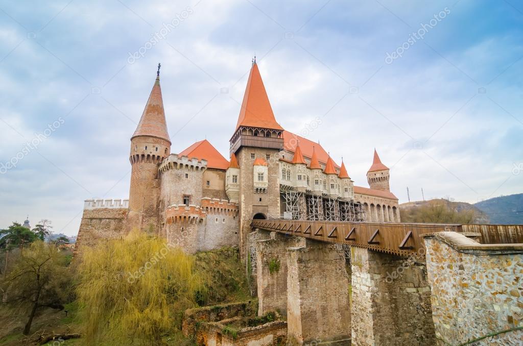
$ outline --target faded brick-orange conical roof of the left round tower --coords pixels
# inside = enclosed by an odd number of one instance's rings
[[[169,133],[167,132],[167,123],[165,121],[165,112],[163,108],[162,89],[160,88],[160,77],[156,80],[151,90],[151,95],[145,104],[142,117],[138,127],[131,137],[153,136],[164,139],[170,143]]]

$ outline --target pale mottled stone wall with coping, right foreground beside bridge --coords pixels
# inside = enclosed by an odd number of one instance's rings
[[[482,245],[454,232],[426,235],[427,270],[440,344],[521,345],[523,245]]]

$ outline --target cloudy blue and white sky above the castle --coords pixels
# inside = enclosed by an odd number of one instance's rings
[[[0,228],[75,235],[128,198],[130,137],[161,62],[172,153],[229,157],[253,56],[276,119],[400,203],[523,192],[516,0],[0,1]]]

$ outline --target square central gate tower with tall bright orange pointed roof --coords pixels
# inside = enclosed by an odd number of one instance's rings
[[[240,249],[242,257],[253,218],[280,215],[279,156],[283,128],[276,122],[256,64],[251,67],[231,155],[240,166]]]

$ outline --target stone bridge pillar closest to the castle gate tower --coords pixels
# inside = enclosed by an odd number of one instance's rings
[[[304,243],[305,238],[276,232],[256,242],[258,316],[274,310],[287,314],[287,248]]]

